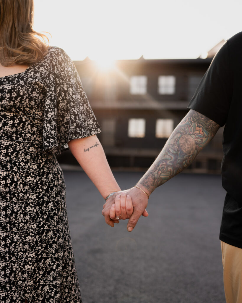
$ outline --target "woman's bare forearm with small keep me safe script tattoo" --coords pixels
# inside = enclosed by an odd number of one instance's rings
[[[96,135],[71,140],[68,145],[103,198],[106,198],[113,191],[120,190]]]

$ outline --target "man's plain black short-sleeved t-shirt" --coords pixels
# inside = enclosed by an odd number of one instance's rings
[[[242,248],[242,32],[217,52],[188,108],[224,127],[220,240]]]

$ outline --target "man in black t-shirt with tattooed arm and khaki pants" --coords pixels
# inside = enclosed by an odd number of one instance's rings
[[[242,32],[217,52],[191,102],[190,111],[168,138],[164,148],[135,187],[117,192],[103,205],[107,224],[129,218],[132,231],[156,187],[188,167],[225,125],[222,185],[227,191],[220,230],[227,302],[242,302]],[[126,210],[132,199],[133,213]],[[114,204],[115,201],[115,204]],[[130,208],[130,206],[128,207]]]

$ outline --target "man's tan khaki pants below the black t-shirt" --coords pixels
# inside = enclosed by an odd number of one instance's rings
[[[224,292],[227,303],[242,302],[242,248],[221,241]]]

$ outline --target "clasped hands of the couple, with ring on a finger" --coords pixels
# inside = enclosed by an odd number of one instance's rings
[[[136,187],[125,191],[118,191],[112,197],[107,199],[103,205],[102,214],[108,225],[114,226],[119,219],[129,219],[127,230],[132,231],[136,226],[139,217],[148,216],[146,207],[148,205],[148,196]]]

